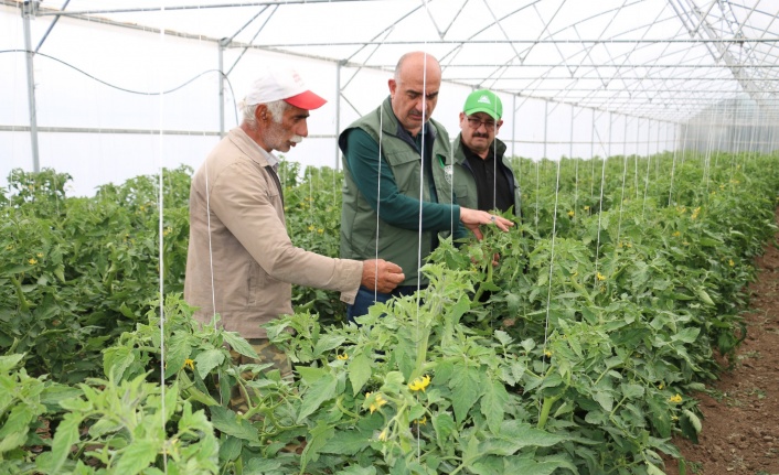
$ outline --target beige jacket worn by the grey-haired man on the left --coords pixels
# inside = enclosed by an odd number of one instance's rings
[[[341,300],[353,303],[362,279],[361,261],[292,246],[277,177],[263,153],[235,128],[192,176],[190,188],[184,299],[200,307],[199,322],[211,322],[216,312],[225,330],[244,338],[266,337],[260,324],[292,313],[292,283],[341,291]]]

